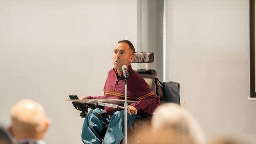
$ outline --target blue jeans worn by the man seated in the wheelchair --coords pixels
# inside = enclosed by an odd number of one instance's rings
[[[100,132],[103,130],[106,124],[109,124],[108,131],[106,131],[103,143],[120,143],[124,138],[124,110],[116,111],[111,119],[97,117],[98,113],[103,113],[102,109],[92,109],[86,115],[84,119],[81,140],[83,143],[101,143],[99,138]],[[127,113],[127,126],[128,128],[132,125],[136,117],[141,117],[139,114],[128,114]]]

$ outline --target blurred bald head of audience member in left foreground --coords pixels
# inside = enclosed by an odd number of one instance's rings
[[[11,108],[9,131],[16,141],[20,139],[44,139],[50,125],[44,108],[32,100],[21,100]]]

